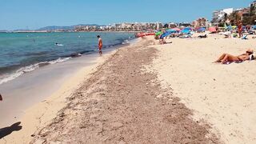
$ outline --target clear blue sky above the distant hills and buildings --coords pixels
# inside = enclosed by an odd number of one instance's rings
[[[252,0],[1,0],[0,30],[118,22],[190,22]]]

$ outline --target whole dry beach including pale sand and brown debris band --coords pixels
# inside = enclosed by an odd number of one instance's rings
[[[36,104],[0,143],[254,143],[254,39],[153,37],[98,59]],[[254,49],[255,50],[255,49]]]

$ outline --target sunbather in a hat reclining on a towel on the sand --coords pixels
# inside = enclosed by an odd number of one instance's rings
[[[222,56],[218,58],[218,60],[215,62],[222,62],[222,64],[228,64],[230,62],[243,62],[246,60],[254,59],[252,54],[254,54],[254,50],[251,49],[246,50],[246,54],[241,54],[238,56],[234,56],[231,54],[222,54]]]

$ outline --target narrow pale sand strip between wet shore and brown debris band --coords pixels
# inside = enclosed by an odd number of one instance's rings
[[[73,76],[68,78],[66,82],[62,83],[54,93],[50,94],[50,96],[26,109],[22,117],[18,120],[18,122],[21,122],[22,130],[18,132],[14,131],[12,134],[7,135],[0,140],[0,143],[5,141],[10,143],[29,143],[33,138],[30,135],[33,135],[38,127],[46,126],[46,124],[56,116],[58,111],[65,106],[66,98],[74,93],[82,82],[84,82],[86,78],[89,78],[90,74],[94,73],[94,71],[98,69],[98,66],[102,65],[102,63],[110,58],[116,51],[117,50],[112,50],[108,54],[104,54],[102,57],[95,59],[94,64],[78,70]]]

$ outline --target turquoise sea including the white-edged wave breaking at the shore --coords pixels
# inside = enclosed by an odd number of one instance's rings
[[[64,62],[76,54],[98,53],[134,39],[132,33],[0,33],[0,85],[41,66]],[[58,43],[58,45],[56,45]]]

